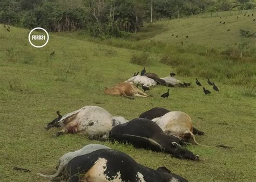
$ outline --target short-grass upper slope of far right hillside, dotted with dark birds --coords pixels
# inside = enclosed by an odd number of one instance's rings
[[[240,11],[239,11],[240,12]],[[151,40],[163,41],[170,44],[184,43],[205,45],[225,50],[227,47],[238,47],[239,44],[248,43],[248,47],[256,49],[255,37],[242,37],[240,29],[256,32],[256,15],[252,11],[244,16],[244,13],[232,16],[218,17],[192,17],[163,21],[157,24],[165,25],[169,30],[158,34]],[[249,13],[250,12],[250,13]],[[255,14],[255,13],[254,13]],[[247,17],[247,15],[250,15]],[[237,18],[238,16],[238,18]],[[221,18],[220,18],[221,17]],[[221,22],[221,23],[220,23]],[[225,24],[223,24],[225,22]],[[230,31],[227,31],[230,29]],[[174,34],[174,36],[171,36]],[[178,36],[176,38],[176,36]],[[188,36],[188,38],[186,38]]]

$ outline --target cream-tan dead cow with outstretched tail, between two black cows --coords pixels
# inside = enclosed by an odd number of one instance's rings
[[[156,122],[167,135],[175,135],[184,139],[192,138],[194,143],[201,145],[194,137],[192,120],[186,113],[171,111],[164,116],[154,118],[152,121]]]

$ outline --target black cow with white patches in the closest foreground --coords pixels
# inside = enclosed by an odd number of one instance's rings
[[[100,149],[77,156],[68,163],[64,179],[75,181],[187,181],[166,167],[157,170],[136,163],[130,156],[112,149]]]

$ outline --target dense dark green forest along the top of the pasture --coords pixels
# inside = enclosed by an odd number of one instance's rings
[[[151,5],[152,3],[152,5]],[[122,37],[143,22],[204,12],[246,10],[250,0],[1,0],[0,23],[48,31],[86,30],[91,36]]]

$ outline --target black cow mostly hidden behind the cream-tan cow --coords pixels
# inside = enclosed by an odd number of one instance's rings
[[[153,120],[153,118],[164,116],[166,113],[169,113],[170,110],[161,107],[155,107],[150,110],[145,111],[144,113],[140,114],[140,118],[147,118],[149,120]],[[199,131],[198,129],[193,127],[193,134],[196,135],[204,135],[203,131]]]

